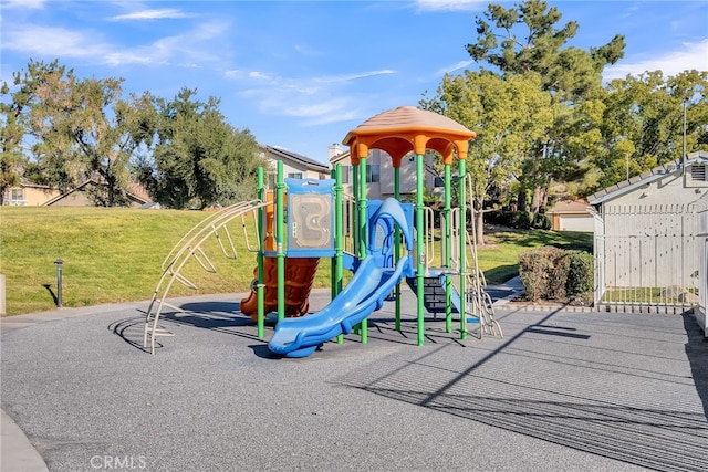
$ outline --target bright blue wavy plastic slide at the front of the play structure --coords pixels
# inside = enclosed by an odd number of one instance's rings
[[[353,326],[383,306],[386,296],[403,277],[412,275],[410,256],[402,258],[393,268],[386,266],[391,264],[387,262],[391,258],[386,254],[394,242],[394,223],[400,229],[408,250],[412,250],[413,224],[406,219],[397,200],[384,200],[368,224],[368,240],[381,241],[381,247],[369,243],[368,255],[358,264],[350,283],[322,311],[279,321],[268,343],[270,350],[287,357],[306,357],[333,337],[350,334]],[[376,238],[377,230],[386,233],[384,238]]]

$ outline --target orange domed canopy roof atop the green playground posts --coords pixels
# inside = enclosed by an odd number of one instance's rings
[[[416,108],[399,106],[368,118],[346,134],[342,141],[350,147],[352,164],[366,158],[369,149],[382,149],[391,155],[394,167],[400,167],[403,157],[415,151],[425,154],[433,149],[442,156],[444,164],[451,164],[454,150],[458,159],[467,157],[468,144],[477,135],[446,116]]]

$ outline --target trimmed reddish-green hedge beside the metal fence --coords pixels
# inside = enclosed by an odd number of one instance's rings
[[[593,255],[583,251],[543,247],[519,255],[521,283],[533,302],[586,296],[593,290]]]

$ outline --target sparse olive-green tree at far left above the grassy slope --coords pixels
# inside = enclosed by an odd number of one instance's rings
[[[82,81],[58,61],[31,61],[24,74],[14,74],[17,91],[6,106],[46,183],[67,190],[94,178],[97,204],[126,203],[129,161],[152,135],[154,112],[148,94],[123,101],[122,82]]]

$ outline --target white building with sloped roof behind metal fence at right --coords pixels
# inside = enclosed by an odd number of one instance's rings
[[[708,208],[708,153],[658,166],[589,197],[594,208],[595,303],[683,312],[696,305],[699,213]]]

